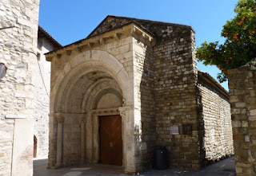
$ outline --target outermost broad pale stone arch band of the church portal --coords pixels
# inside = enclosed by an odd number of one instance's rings
[[[114,80],[118,81],[127,103],[133,104],[133,96],[129,96],[132,94],[133,84],[128,72],[126,72],[126,68],[110,53],[100,50],[91,50],[79,53],[66,63],[62,71],[59,72],[50,94],[50,112],[53,113],[60,108],[59,104],[62,101],[63,91],[66,85],[70,84],[72,77],[82,76],[86,72],[92,72],[94,70],[109,73]],[[74,80],[72,80],[72,82],[74,82]]]

